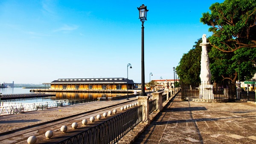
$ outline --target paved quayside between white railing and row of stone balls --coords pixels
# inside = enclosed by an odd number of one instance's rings
[[[130,97],[129,99],[136,100],[137,98]],[[36,126],[42,123],[50,123],[51,121],[55,121],[57,119],[68,118],[72,115],[76,115],[83,112],[89,112],[95,109],[110,107],[115,104],[120,104],[124,102],[127,102],[126,98],[115,101],[94,101],[89,103],[76,104],[65,107],[55,107],[50,109],[25,112],[14,115],[0,115],[0,135],[9,132],[14,132],[17,130],[23,130],[24,128]]]

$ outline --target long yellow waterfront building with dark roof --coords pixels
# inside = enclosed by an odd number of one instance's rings
[[[50,89],[58,90],[82,90],[82,89],[127,89],[127,78],[63,78],[52,81]],[[133,80],[128,79],[128,89],[135,89],[137,86]]]

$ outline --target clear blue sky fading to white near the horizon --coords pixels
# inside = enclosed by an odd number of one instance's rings
[[[0,83],[41,84],[58,78],[173,79],[176,67],[209,26],[200,23],[224,0],[0,0]]]

